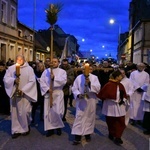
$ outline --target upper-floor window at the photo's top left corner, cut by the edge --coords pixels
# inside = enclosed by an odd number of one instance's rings
[[[2,1],[1,5],[1,21],[7,23],[7,3]]]

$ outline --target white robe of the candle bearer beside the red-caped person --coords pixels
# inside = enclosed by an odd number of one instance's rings
[[[96,93],[100,91],[100,83],[97,76],[90,74],[91,85],[87,88],[88,98],[79,99],[78,94],[84,94],[85,77],[79,75],[72,86],[72,92],[76,100],[76,117],[73,123],[71,134],[87,135],[94,132],[96,115]]]

